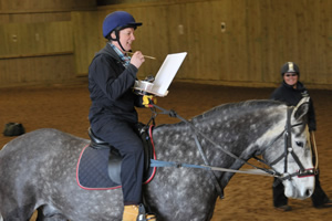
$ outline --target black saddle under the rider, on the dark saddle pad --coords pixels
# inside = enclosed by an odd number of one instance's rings
[[[148,130],[152,130],[152,128],[153,128],[153,126],[149,126]],[[139,124],[138,131],[139,131],[139,136],[143,141],[143,146],[144,146],[144,180],[149,181],[152,179],[152,175],[154,175],[154,172],[155,172],[154,171],[155,169],[149,167],[149,160],[155,158],[154,147],[152,144],[149,133],[147,131],[147,127],[143,124]],[[93,152],[93,151],[98,152],[98,154],[92,154],[94,156],[96,156],[96,155],[105,156],[105,154],[108,154],[108,160],[102,159],[102,161],[103,160],[108,161],[107,169],[106,169],[107,176],[114,183],[116,183],[117,186],[121,186],[122,157],[121,157],[118,150],[115,149],[113,146],[111,146],[108,143],[102,140],[96,135],[94,135],[94,133],[91,128],[89,128],[87,133],[91,138],[91,143],[90,143],[89,147],[86,147],[86,149],[90,149],[89,150],[90,152]],[[96,157],[96,158],[98,158],[98,157]],[[103,167],[103,165],[102,165],[102,167]]]

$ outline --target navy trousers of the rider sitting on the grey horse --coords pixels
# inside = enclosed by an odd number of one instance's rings
[[[97,124],[96,124],[97,125]],[[116,148],[122,161],[122,191],[124,204],[142,202],[142,182],[144,171],[144,147],[134,124],[112,120],[102,127],[91,125],[94,134]]]

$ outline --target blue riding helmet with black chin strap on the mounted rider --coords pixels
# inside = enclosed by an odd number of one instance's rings
[[[141,27],[142,22],[136,22],[134,17],[126,11],[115,11],[110,13],[103,22],[103,35],[105,39],[117,41],[121,49],[123,51],[124,48],[120,42],[120,31],[126,28],[134,28]],[[111,36],[111,33],[115,31],[115,39]]]

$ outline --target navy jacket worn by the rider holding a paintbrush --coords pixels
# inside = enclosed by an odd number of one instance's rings
[[[133,124],[138,122],[135,106],[142,107],[142,96],[134,94],[132,90],[137,71],[133,64],[125,69],[108,43],[96,53],[89,66],[91,124],[100,124],[97,127],[101,127],[104,119]]]

